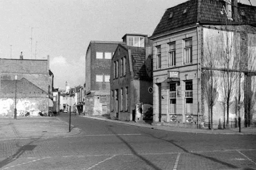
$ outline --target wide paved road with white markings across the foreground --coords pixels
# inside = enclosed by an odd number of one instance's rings
[[[68,122],[68,114],[58,117]],[[169,132],[78,115],[71,123],[82,132],[2,142],[0,169],[256,169],[255,135]]]

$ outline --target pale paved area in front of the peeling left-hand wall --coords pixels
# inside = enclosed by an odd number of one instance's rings
[[[71,125],[68,132],[68,123],[57,117],[0,117],[0,141],[49,138],[69,136],[80,133],[80,129]]]

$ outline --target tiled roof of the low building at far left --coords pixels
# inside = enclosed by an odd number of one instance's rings
[[[2,73],[47,74],[47,60],[0,59]]]

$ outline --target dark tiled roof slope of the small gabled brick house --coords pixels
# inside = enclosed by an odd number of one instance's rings
[[[131,50],[131,57],[132,57],[132,69],[133,69],[133,78],[135,79],[152,79],[148,76],[146,65],[145,65],[145,48],[144,47],[133,47],[133,46],[126,46],[121,45],[127,50]]]

